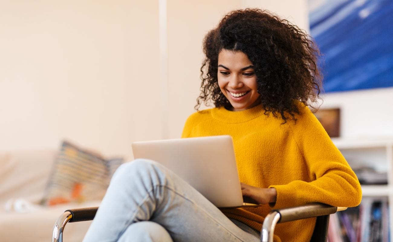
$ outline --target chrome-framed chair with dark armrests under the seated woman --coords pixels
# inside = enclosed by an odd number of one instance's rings
[[[52,242],[62,242],[65,225],[70,222],[93,220],[98,207],[66,210],[57,219],[53,227]],[[297,207],[276,209],[266,216],[261,231],[262,242],[272,242],[275,225],[289,221],[317,217],[316,225],[310,242],[326,242],[329,227],[329,215],[342,211],[345,207],[333,207],[323,203],[310,203]]]

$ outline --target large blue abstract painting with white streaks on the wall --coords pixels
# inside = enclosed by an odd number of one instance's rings
[[[393,0],[309,0],[325,92],[393,87]]]

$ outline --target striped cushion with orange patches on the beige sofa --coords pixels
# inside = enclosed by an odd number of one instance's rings
[[[101,200],[123,159],[103,159],[64,141],[42,201],[45,205]]]

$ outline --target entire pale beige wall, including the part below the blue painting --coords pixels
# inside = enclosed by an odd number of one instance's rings
[[[308,30],[307,0],[0,0],[0,151],[68,138],[131,157],[132,141],[180,137],[199,95],[202,39],[242,7]],[[342,108],[344,137],[393,136],[392,98],[393,89],[329,94],[323,106]]]

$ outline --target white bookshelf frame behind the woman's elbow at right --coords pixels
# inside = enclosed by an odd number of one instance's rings
[[[387,172],[387,185],[362,185],[363,197],[387,197],[389,201],[390,241],[393,241],[393,138],[332,139],[351,167],[368,165]]]

